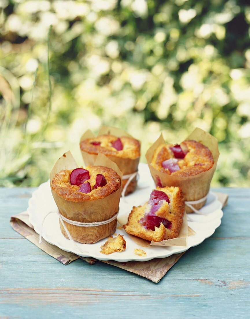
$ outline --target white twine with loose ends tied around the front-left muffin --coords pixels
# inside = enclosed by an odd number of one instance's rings
[[[43,233],[43,224],[44,224],[44,221],[45,221],[46,217],[47,217],[48,215],[52,214],[52,213],[57,213],[57,215],[58,215],[58,217],[59,217],[59,219],[60,219],[60,222],[62,223],[62,226],[63,226],[63,228],[64,228],[64,230],[65,230],[65,232],[66,232],[66,234],[67,234],[69,240],[74,243],[74,245],[77,247],[77,249],[79,249],[82,253],[88,253],[88,251],[82,250],[82,249],[77,245],[77,243],[73,240],[73,238],[71,237],[71,234],[69,233],[67,227],[66,227],[65,224],[64,224],[64,221],[66,221],[68,224],[71,224],[71,225],[74,225],[74,226],[80,226],[80,227],[100,226],[100,225],[108,224],[108,223],[110,223],[111,221],[115,220],[116,217],[117,217],[117,215],[118,215],[118,213],[119,213],[119,211],[118,211],[113,217],[111,217],[111,218],[109,218],[109,219],[107,219],[107,220],[103,220],[103,221],[99,221],[99,222],[94,222],[94,223],[81,223],[81,222],[76,221],[76,220],[67,219],[66,217],[64,217],[63,215],[61,215],[58,210],[56,210],[56,211],[50,211],[50,212],[48,212],[48,213],[45,215],[45,217],[44,217],[44,219],[43,219],[43,221],[42,221],[41,232],[40,232],[40,235],[39,235],[39,244],[42,242],[42,233]]]

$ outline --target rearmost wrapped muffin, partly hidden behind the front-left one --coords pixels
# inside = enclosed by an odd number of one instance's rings
[[[140,142],[129,136],[126,132],[115,130],[116,135],[107,131],[94,137],[87,131],[80,140],[80,149],[85,165],[91,165],[97,154],[102,153],[117,164],[123,174],[123,195],[132,193],[137,185],[138,164],[140,160]],[[133,174],[133,176],[131,176]],[[128,181],[129,179],[129,181]]]

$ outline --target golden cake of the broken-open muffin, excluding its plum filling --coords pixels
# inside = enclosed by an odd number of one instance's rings
[[[178,237],[183,222],[185,209],[184,197],[179,187],[156,187],[156,190],[162,191],[169,197],[170,203],[165,202],[156,212],[155,215],[163,217],[171,222],[171,228],[164,227],[163,223],[155,230],[145,228],[140,219],[150,210],[148,202],[143,206],[134,206],[128,216],[127,224],[123,228],[128,234],[146,239],[148,241],[163,241]]]

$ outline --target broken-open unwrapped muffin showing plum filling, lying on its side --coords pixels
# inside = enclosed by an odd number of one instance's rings
[[[179,187],[156,187],[149,201],[133,207],[123,228],[148,241],[178,237],[184,215],[184,197]]]

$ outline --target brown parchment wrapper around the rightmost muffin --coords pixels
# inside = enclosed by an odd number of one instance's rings
[[[203,198],[207,195],[210,188],[210,182],[212,180],[214,171],[216,169],[217,161],[219,158],[219,150],[218,150],[218,141],[211,134],[205,132],[200,128],[196,128],[187,138],[186,140],[195,140],[197,142],[202,143],[207,146],[213,156],[214,164],[213,166],[206,172],[199,173],[197,175],[181,177],[175,175],[168,175],[166,173],[158,171],[151,165],[151,161],[153,158],[153,154],[156,148],[161,144],[166,144],[163,139],[162,134],[155,141],[155,143],[148,149],[146,153],[146,159],[148,162],[150,173],[156,183],[160,181],[163,186],[178,186],[182,189],[185,201],[195,201],[200,198]],[[192,205],[196,209],[200,209],[205,205],[206,200],[199,204]],[[193,212],[193,210],[185,205],[185,211],[187,213]]]

